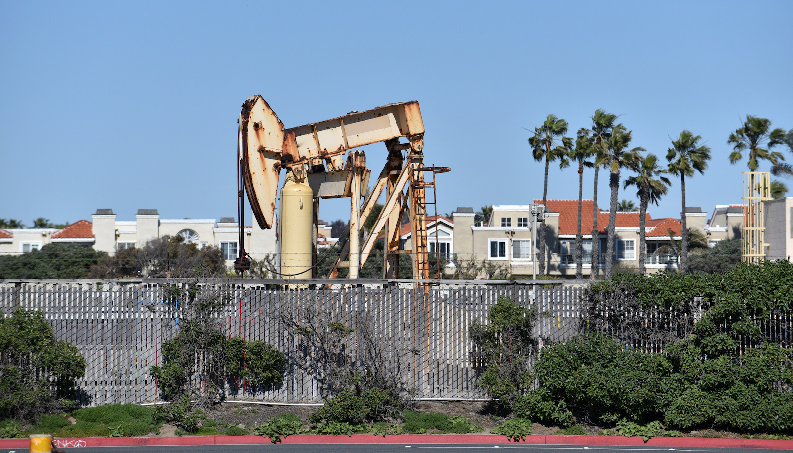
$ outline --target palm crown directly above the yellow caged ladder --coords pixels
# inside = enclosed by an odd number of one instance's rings
[[[736,129],[727,139],[727,144],[733,145],[730,163],[737,163],[743,159],[743,152],[747,150],[749,151],[747,166],[750,171],[757,171],[759,165],[757,159],[766,159],[772,163],[772,166],[784,160],[781,152],[771,151],[771,148],[785,143],[785,131],[776,128],[768,132],[768,129],[771,129],[771,120],[746,115],[743,127]]]

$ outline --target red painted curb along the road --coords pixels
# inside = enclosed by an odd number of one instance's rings
[[[181,437],[83,437],[55,439],[58,447],[130,447],[142,445],[234,445],[270,443],[262,436],[181,436]],[[717,447],[777,448],[793,450],[793,440],[718,439],[712,437],[653,437],[647,443],[641,437],[623,436],[527,436],[525,441],[510,442],[496,434],[398,434],[374,436],[331,436],[330,434],[296,434],[282,443],[534,443],[546,445],[646,445],[648,447]],[[0,448],[27,448],[28,439],[0,439]]]

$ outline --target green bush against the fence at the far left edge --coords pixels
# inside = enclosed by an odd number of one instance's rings
[[[86,372],[77,347],[56,340],[44,313],[14,309],[0,317],[0,418],[35,420],[72,407]]]

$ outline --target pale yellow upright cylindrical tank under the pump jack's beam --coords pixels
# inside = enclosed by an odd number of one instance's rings
[[[278,238],[278,258],[284,278],[311,278],[313,209],[314,192],[307,180],[297,182],[289,172],[281,189],[281,234]]]

